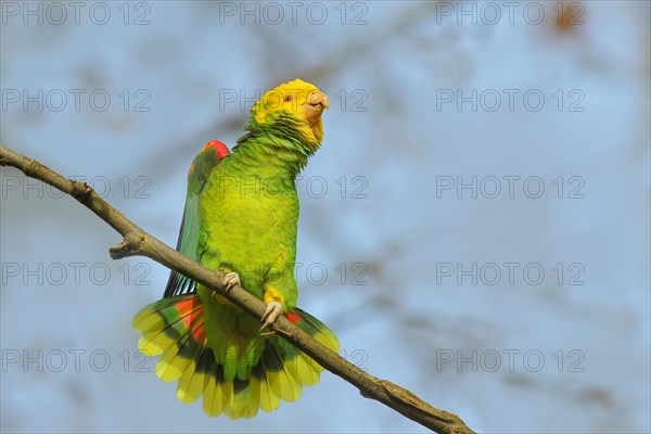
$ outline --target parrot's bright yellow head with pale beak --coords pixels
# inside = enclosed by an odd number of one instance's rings
[[[296,78],[265,92],[253,106],[252,116],[260,125],[270,125],[288,116],[314,146],[323,139],[321,114],[330,106],[328,95],[315,85]]]

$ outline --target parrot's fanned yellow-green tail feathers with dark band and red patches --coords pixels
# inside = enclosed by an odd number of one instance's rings
[[[311,315],[295,308],[285,317],[334,352],[334,333]],[[310,357],[278,336],[264,339],[264,348],[247,379],[225,378],[208,346],[204,331],[203,302],[194,294],[163,298],[144,307],[133,318],[142,333],[138,348],[145,356],[163,355],[156,375],[163,381],[179,380],[177,396],[193,403],[203,395],[208,416],[222,412],[231,419],[252,418],[258,409],[273,411],[280,401],[301,397],[302,386],[319,381],[323,370]],[[253,365],[253,363],[252,363]]]

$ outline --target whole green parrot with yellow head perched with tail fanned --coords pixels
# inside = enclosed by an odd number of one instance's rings
[[[221,295],[171,272],[164,298],[141,309],[133,328],[146,356],[162,355],[156,375],[178,380],[177,396],[203,395],[208,416],[252,418],[294,401],[322,368],[273,332],[280,315],[339,352],[334,333],[296,307],[295,178],[323,138],[328,95],[296,79],[267,91],[253,106],[247,131],[229,152],[209,141],[188,174],[177,250],[226,273],[267,305],[258,321]]]

